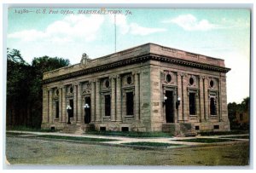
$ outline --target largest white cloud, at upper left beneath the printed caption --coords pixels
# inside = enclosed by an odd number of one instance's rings
[[[102,26],[102,15],[69,15],[63,20],[51,23],[44,31],[24,30],[10,33],[9,38],[18,38],[23,41],[44,40],[53,43],[72,42],[75,38],[82,38],[90,42],[96,39],[96,33]]]

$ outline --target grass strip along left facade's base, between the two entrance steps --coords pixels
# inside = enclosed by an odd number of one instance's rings
[[[164,132],[135,132],[135,131],[88,131],[86,134],[101,136],[127,136],[127,137],[172,137]]]

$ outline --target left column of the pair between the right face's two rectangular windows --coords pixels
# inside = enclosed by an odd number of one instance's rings
[[[200,122],[205,120],[205,107],[204,107],[204,80],[205,77],[199,77],[199,106],[200,106]]]

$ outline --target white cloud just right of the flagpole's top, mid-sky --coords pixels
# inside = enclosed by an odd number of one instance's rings
[[[112,23],[114,22],[113,17],[111,17]],[[119,32],[121,34],[131,34],[135,36],[147,36],[156,32],[166,32],[165,28],[155,28],[155,27],[143,27],[137,23],[128,23],[125,15],[116,15],[116,26],[119,27]]]

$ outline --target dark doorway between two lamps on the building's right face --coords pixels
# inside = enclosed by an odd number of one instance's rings
[[[166,123],[174,123],[173,92],[166,90]]]

